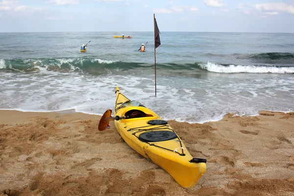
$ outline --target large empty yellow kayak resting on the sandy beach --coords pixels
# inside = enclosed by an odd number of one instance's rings
[[[168,172],[184,188],[192,188],[206,172],[206,159],[193,158],[167,121],[116,88],[114,121],[123,140]]]

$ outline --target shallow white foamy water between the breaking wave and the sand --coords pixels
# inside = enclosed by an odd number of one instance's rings
[[[74,109],[87,114],[103,114],[114,108],[115,88],[138,100],[165,120],[205,123],[219,121],[227,113],[239,116],[258,110],[292,111],[294,79],[289,74],[262,79],[226,77],[196,80],[160,76],[155,97],[154,75],[118,73],[83,75],[42,71],[32,74],[0,75],[0,108],[21,111],[63,111]],[[121,75],[120,75],[121,74]],[[123,75],[122,75],[123,74]]]

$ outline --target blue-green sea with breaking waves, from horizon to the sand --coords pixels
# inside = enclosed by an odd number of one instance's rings
[[[113,37],[122,34],[132,38]],[[114,111],[118,86],[178,122],[294,111],[293,33],[161,32],[160,40],[155,69],[152,31],[0,33],[0,109],[102,115]]]

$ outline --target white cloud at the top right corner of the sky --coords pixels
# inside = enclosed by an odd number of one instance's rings
[[[254,8],[259,11],[260,13],[264,14],[271,14],[271,15],[277,15],[279,12],[287,12],[290,14],[294,14],[294,6],[293,5],[287,5],[286,3],[263,3],[263,4],[255,4]]]

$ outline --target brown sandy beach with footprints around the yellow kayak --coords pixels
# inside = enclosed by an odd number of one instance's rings
[[[294,113],[169,124],[207,171],[192,189],[130,148],[99,116],[0,111],[0,195],[294,196]]]

